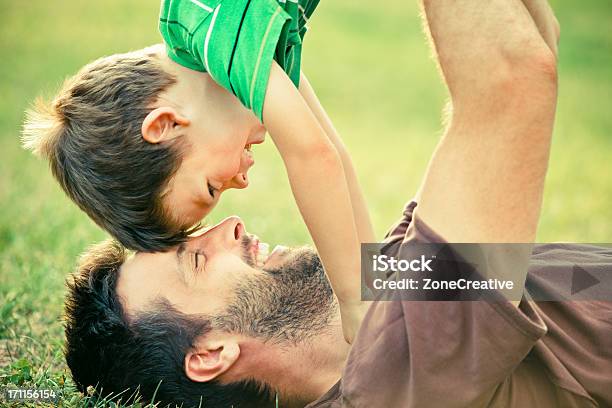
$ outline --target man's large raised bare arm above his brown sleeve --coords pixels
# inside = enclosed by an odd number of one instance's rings
[[[423,6],[452,115],[417,213],[449,242],[533,242],[557,98],[556,39],[538,28],[554,17],[536,24],[519,0]]]

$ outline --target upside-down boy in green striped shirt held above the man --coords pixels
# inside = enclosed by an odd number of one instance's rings
[[[359,245],[374,234],[348,155],[300,80],[301,40],[316,5],[163,2],[166,50],[86,66],[52,107],[30,113],[25,145],[49,159],[98,225],[128,248],[155,251],[183,241],[225,189],[247,185],[250,146],[267,129],[350,341],[365,310]]]

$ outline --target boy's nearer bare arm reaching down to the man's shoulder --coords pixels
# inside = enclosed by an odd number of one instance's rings
[[[340,155],[276,62],[270,71],[263,118],[338,298],[342,330],[350,343],[366,304],[361,301],[360,242]]]

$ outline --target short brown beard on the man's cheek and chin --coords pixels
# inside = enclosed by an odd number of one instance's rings
[[[241,281],[217,327],[266,341],[306,340],[329,327],[336,302],[312,249],[291,249],[283,264]]]

